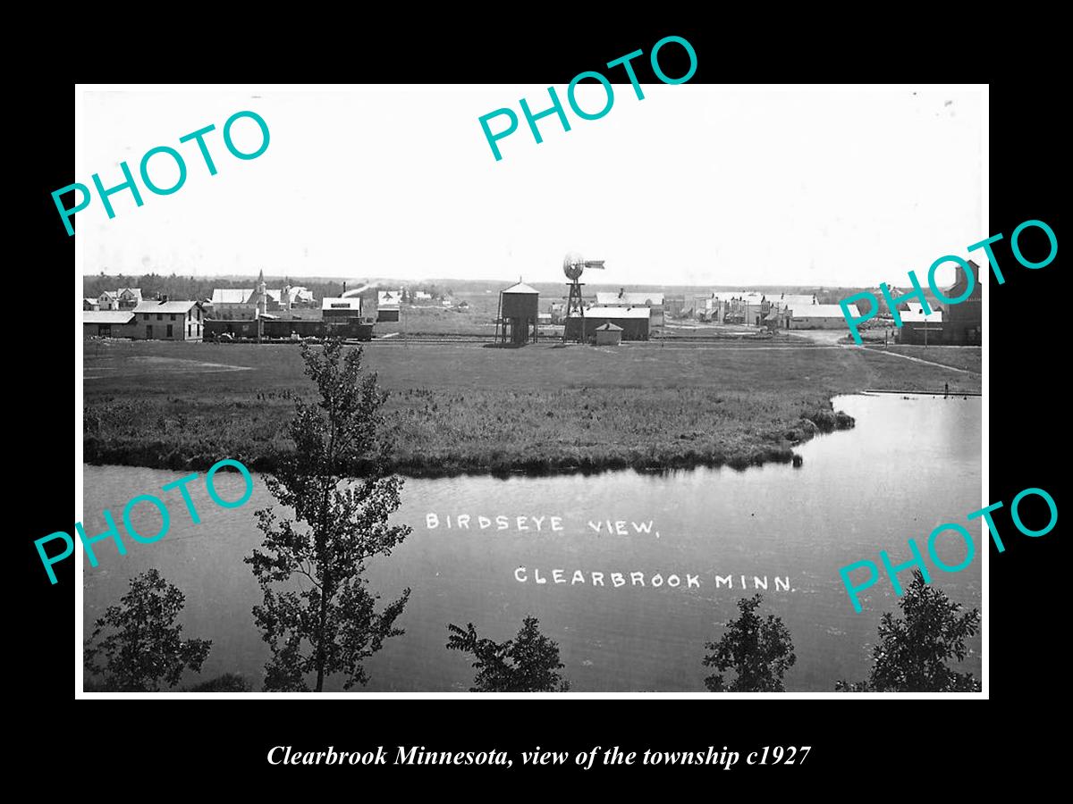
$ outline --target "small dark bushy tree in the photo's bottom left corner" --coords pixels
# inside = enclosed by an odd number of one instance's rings
[[[186,596],[177,586],[149,569],[131,579],[130,591],[119,601],[97,620],[86,644],[86,670],[103,674],[105,688],[156,693],[161,679],[173,687],[185,669],[201,671],[212,641],[181,638],[182,626],[175,625],[175,619]],[[102,638],[105,628],[113,632]],[[97,665],[101,657],[103,667]]]

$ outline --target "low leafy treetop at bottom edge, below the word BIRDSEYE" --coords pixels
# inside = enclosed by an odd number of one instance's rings
[[[473,623],[447,625],[447,649],[473,654],[476,675],[471,693],[565,693],[570,682],[559,670],[559,645],[540,632],[540,621],[527,616],[518,636],[499,643],[477,637]]]

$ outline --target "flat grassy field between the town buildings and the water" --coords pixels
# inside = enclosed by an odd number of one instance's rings
[[[181,470],[231,457],[270,470],[294,398],[311,398],[293,345],[113,342],[84,354],[95,463]],[[787,344],[373,342],[365,356],[392,392],[395,468],[411,476],[788,461],[794,444],[851,425],[832,411],[836,393],[980,390],[979,374]]]

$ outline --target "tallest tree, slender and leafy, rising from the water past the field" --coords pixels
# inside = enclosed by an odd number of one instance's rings
[[[369,559],[389,555],[410,527],[387,523],[402,480],[386,472],[389,444],[381,437],[380,410],[387,394],[378,390],[374,373],[362,370],[362,347],[346,358],[339,339],[323,349],[306,343],[300,349],[321,398],[295,403],[286,430],[294,449],[279,455],[275,476],[265,478],[295,518],[259,510],[263,549],[246,562],[264,594],[253,617],[273,654],[265,689],[305,691],[306,676],[314,674],[320,693],[336,672],[344,673],[346,689],[368,683],[364,659],[402,634],[395,621],[410,590],[377,612],[380,596],[368,591],[364,572]]]

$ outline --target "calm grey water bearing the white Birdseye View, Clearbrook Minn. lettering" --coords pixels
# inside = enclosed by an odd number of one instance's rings
[[[908,538],[923,550],[938,524],[967,525],[966,515],[982,505],[981,400],[853,396],[835,399],[835,408],[854,416],[856,428],[803,445],[798,468],[408,479],[393,520],[413,533],[389,557],[368,565],[382,602],[412,589],[398,621],[406,634],[367,661],[364,689],[465,690],[474,671],[466,655],[445,649],[447,623],[472,622],[501,641],[533,614],[559,643],[575,691],[703,690],[710,672],[701,664],[704,643],[718,639],[737,615],[736,601],[755,591],[764,596],[761,613],[782,617],[793,637],[797,661],[787,673],[788,690],[829,691],[838,679],[863,679],[879,617],[897,611],[897,598],[883,579],[854,613],[838,569],[864,559],[878,563],[880,550],[895,563],[907,561]],[[118,602],[131,576],[157,567],[186,594],[186,636],[212,640],[201,679],[240,672],[260,689],[268,650],[250,613],[261,593],[242,556],[261,541],[253,511],[275,502],[261,477],[254,475],[252,500],[231,510],[214,505],[201,480],[191,483],[202,520],[193,524],[177,492],[160,492],[180,473],[84,468],[88,534],[105,528],[103,509],[119,521],[137,494],[161,495],[172,511],[162,540],[127,540],[126,556],[100,542],[99,566],[84,561],[86,634],[104,607]],[[217,476],[218,489],[235,500],[241,481],[225,474]],[[459,527],[459,515],[470,517],[468,527]],[[132,519],[144,533],[159,530],[149,505]],[[936,570],[932,583],[980,608],[978,522],[969,531],[978,541],[972,564],[956,574]],[[956,565],[965,547],[947,536],[939,553]],[[662,584],[653,587],[657,574]],[[908,584],[909,572],[901,578]],[[980,642],[978,634],[959,666],[978,678]],[[183,683],[196,681],[190,675]],[[341,680],[330,679],[327,688],[341,689]]]

